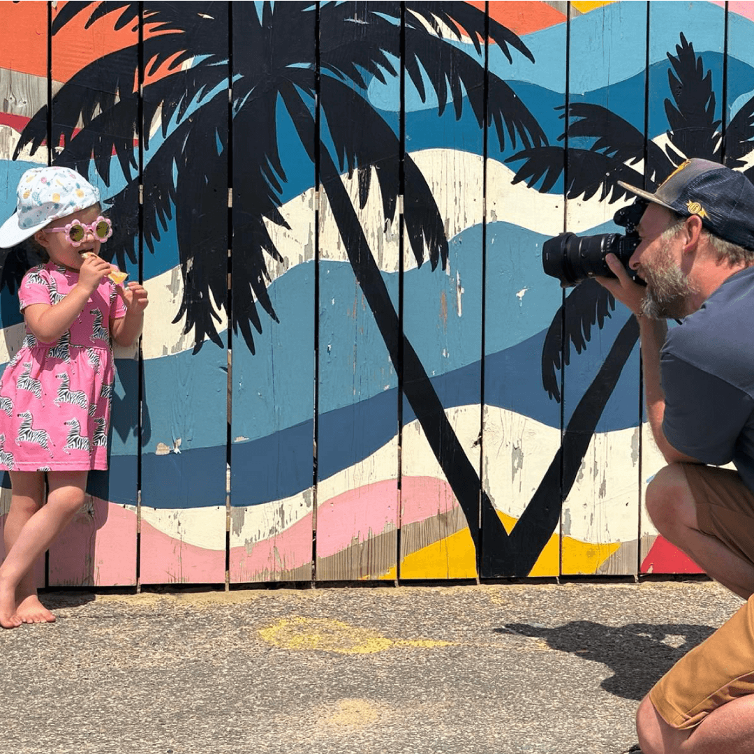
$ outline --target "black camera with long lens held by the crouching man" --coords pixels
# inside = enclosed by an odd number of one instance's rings
[[[605,256],[612,253],[627,267],[628,260],[639,246],[641,239],[636,225],[642,219],[647,202],[637,199],[628,207],[618,210],[613,217],[615,225],[626,228],[626,234],[601,233],[593,236],[578,236],[575,233],[561,233],[545,241],[542,246],[542,268],[545,274],[560,280],[562,288],[569,288],[589,277],[615,277],[605,262]],[[628,270],[628,274],[637,282],[641,278]]]

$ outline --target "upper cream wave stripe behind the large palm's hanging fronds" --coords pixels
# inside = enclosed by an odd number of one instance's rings
[[[458,170],[458,174],[471,176],[481,174],[483,160],[478,155],[458,152],[452,149],[427,149],[412,154],[418,167],[428,178],[430,188],[440,202],[440,212],[446,225],[448,238],[453,238],[467,228],[467,218],[474,213],[467,207],[470,198],[461,192],[460,195],[450,197],[446,192],[447,175],[449,170]],[[556,235],[562,231],[563,198],[559,195],[540,194],[535,189],[527,189],[519,183],[513,185],[513,171],[503,164],[489,161],[488,185],[491,196],[488,196],[489,222],[508,222],[519,225],[527,230],[544,235]],[[354,201],[357,198],[357,179],[348,180],[344,177],[345,185]],[[617,209],[621,204],[611,205]],[[314,258],[314,190],[308,189],[301,195],[294,197],[281,207],[281,214],[290,224],[291,229],[280,228],[268,222],[272,240],[277,245],[284,262],[278,263],[268,260],[270,281],[268,285],[280,277],[287,270],[310,262]],[[589,201],[571,201],[569,203],[569,218],[571,230],[577,233],[589,231],[596,225],[605,222],[605,204],[592,198]],[[398,238],[395,228],[382,231],[382,205],[379,192],[373,191],[363,210],[364,225],[367,238],[375,251],[380,269],[384,272],[397,272]],[[326,207],[323,198],[321,238],[339,238],[333,219],[333,214]],[[397,223],[394,223],[397,226]],[[342,244],[326,246],[320,249],[322,259],[348,263],[348,258]],[[411,253],[406,255],[404,268],[415,268],[415,261]],[[183,295],[183,282],[179,267],[171,268],[145,281],[149,293],[149,312],[145,317],[143,356],[145,359],[156,359],[163,356],[189,351],[194,347],[193,333],[184,334],[185,317],[173,323],[173,317],[179,310]],[[225,312],[218,311],[216,302],[212,302],[214,310],[220,317],[217,328],[220,332],[227,329],[228,318]],[[20,347],[23,340],[23,325],[13,325],[2,330],[0,338],[0,363],[10,360],[11,352]],[[133,358],[135,348],[116,349],[116,357]]]

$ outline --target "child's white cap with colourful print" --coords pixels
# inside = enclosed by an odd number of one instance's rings
[[[86,210],[100,201],[100,191],[69,167],[32,167],[16,189],[16,211],[0,226],[0,249],[31,238],[52,220]]]

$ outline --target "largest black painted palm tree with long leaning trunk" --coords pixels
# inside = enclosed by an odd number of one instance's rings
[[[265,255],[282,261],[268,233],[265,219],[287,227],[280,214],[280,189],[286,181],[277,146],[276,113],[284,109],[311,161],[317,161],[320,185],[348,259],[363,290],[382,338],[396,368],[402,356],[403,390],[431,448],[464,511],[471,537],[480,552],[480,479],[450,425],[443,405],[411,343],[401,334],[400,320],[360,224],[356,207],[343,185],[341,174],[357,171],[360,207],[366,204],[375,170],[385,222],[396,213],[400,186],[388,178],[398,174],[402,161],[406,185],[417,201],[406,203],[403,219],[417,265],[446,267],[448,241],[436,201],[411,155],[401,155],[400,139],[382,115],[366,99],[372,78],[385,81],[397,76],[394,60],[401,45],[412,51],[404,60],[406,77],[421,97],[431,86],[438,115],[451,103],[456,118],[469,106],[479,127],[494,125],[501,149],[510,141],[527,149],[547,144],[537,121],[508,85],[483,63],[449,44],[443,34],[461,39],[461,30],[480,54],[480,40],[489,38],[512,61],[511,48],[532,54],[513,32],[466,2],[443,0],[372,0],[372,2],[263,2],[234,3],[233,27],[224,2],[68,2],[54,19],[53,33],[87,11],[87,26],[113,14],[115,28],[136,24],[140,7],[143,20],[155,35],[145,35],[141,58],[147,73],[167,66],[172,73],[143,87],[143,118],[139,117],[139,93],[133,90],[136,48],[118,51],[93,61],[74,75],[52,102],[54,120],[48,134],[47,108],[41,109],[23,131],[16,155],[45,139],[61,144],[57,164],[66,164],[87,175],[90,160],[109,185],[111,158],[115,154],[126,177],[125,188],[112,198],[112,215],[118,222],[124,207],[133,207],[139,193],[139,176],[133,135],[139,121],[151,124],[161,118],[163,143],[143,168],[143,238],[154,253],[160,226],[175,212],[179,258],[184,282],[183,299],[176,314],[185,314],[185,333],[195,331],[195,348],[205,337],[222,347],[217,332],[219,319],[211,300],[228,310],[225,248],[213,247],[212,228],[223,227],[227,218],[225,168],[227,133],[219,128],[227,113],[229,34],[242,33],[244,52],[234,57],[232,127],[253,138],[234,143],[234,231],[243,244],[234,248],[233,276],[238,290],[231,311],[234,332],[240,330],[254,351],[253,329],[262,332],[258,306],[277,320],[266,290],[269,280]],[[318,13],[317,55],[311,44],[311,14]],[[305,32],[296,33],[302,26]],[[400,35],[396,28],[400,27]],[[334,44],[336,42],[337,44]],[[181,64],[192,64],[181,70]],[[483,86],[487,75],[487,87]],[[223,85],[225,88],[223,88]],[[176,91],[181,92],[176,97]],[[215,94],[215,92],[217,92]],[[487,98],[487,100],[486,100]],[[464,100],[467,100],[464,103]],[[317,131],[316,107],[328,137]],[[191,112],[190,118],[187,112]],[[485,119],[485,116],[487,119]],[[78,122],[83,128],[74,132]],[[354,128],[354,124],[358,127]],[[217,149],[208,146],[217,143]],[[149,134],[143,133],[149,147]],[[167,180],[177,167],[175,182]],[[159,187],[150,191],[149,187]],[[201,217],[193,211],[201,207]],[[108,253],[124,264],[134,261],[133,247],[124,236],[108,244]],[[490,575],[512,574],[516,569],[506,546],[507,534],[482,492],[486,525],[485,562]]]

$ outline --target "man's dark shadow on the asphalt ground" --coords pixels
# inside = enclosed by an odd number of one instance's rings
[[[572,621],[555,628],[507,624],[495,629],[496,633],[544,639],[551,649],[606,665],[613,675],[600,687],[637,701],[676,661],[714,631],[713,627],[694,624],[632,623],[615,627],[592,621]]]

